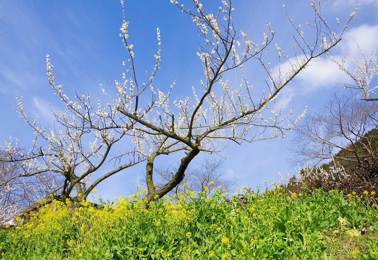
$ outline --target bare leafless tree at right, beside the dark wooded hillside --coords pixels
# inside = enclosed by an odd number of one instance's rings
[[[294,126],[296,134],[289,141],[288,149],[296,157],[291,162],[308,161],[317,165],[335,159],[343,161],[343,166],[360,164],[377,152],[377,113],[376,101],[333,93],[318,112],[305,116]]]

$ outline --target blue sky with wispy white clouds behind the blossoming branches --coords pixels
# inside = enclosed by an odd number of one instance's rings
[[[182,1],[192,6],[190,1]],[[204,10],[216,12],[220,1],[203,1]],[[287,54],[293,56],[294,31],[286,18],[283,5],[295,24],[305,26],[313,19],[309,1],[304,0],[235,0],[232,17],[234,28],[243,30],[249,38],[260,41],[267,31],[266,22],[277,30],[271,48],[278,43]],[[375,0],[325,0],[322,1],[322,15],[335,28],[336,17],[343,24],[356,5],[359,5],[355,19],[350,24],[342,42],[332,50],[333,56],[342,57],[348,53],[358,56],[356,43],[366,52],[378,53],[378,3]],[[197,56],[196,27],[191,17],[181,13],[169,0],[125,0],[126,20],[129,23],[129,42],[135,47],[136,67],[143,75],[152,70],[153,54],[157,50],[156,28],[161,32],[161,70],[155,78],[155,87],[166,90],[177,78],[175,99],[190,95],[191,87],[203,76],[201,61]],[[63,83],[65,91],[74,95],[89,92],[100,95],[99,84],[111,88],[110,79],[122,79],[122,61],[127,55],[119,28],[122,24],[122,9],[119,1],[1,1],[0,2],[0,140],[5,142],[9,135],[18,138],[21,145],[28,147],[33,132],[23,120],[17,117],[12,106],[17,106],[15,93],[23,96],[24,108],[32,116],[38,114],[45,125],[53,126],[51,109],[63,109],[59,99],[53,95],[46,76],[46,53],[50,54],[57,83]],[[247,65],[249,82],[262,84],[262,75]],[[325,57],[314,62],[297,79],[283,89],[276,106],[284,110],[294,105],[294,115],[315,111],[328,100],[333,91],[345,90],[336,82],[348,79]],[[177,98],[176,98],[177,97]],[[288,133],[290,138],[292,133]],[[245,183],[251,187],[263,181],[278,181],[277,171],[294,167],[285,158],[291,158],[285,147],[287,139],[273,139],[231,144],[223,157],[225,171],[240,179],[239,187]],[[216,156],[216,155],[213,155]],[[179,158],[170,156],[175,163]],[[117,174],[98,186],[104,198],[130,195],[138,184],[135,175],[143,173],[143,165]]]

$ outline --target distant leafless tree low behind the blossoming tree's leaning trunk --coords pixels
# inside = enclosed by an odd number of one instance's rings
[[[181,191],[205,191],[207,187],[211,192],[213,189],[221,187],[222,190],[231,190],[235,187],[239,179],[237,177],[231,177],[222,170],[224,167],[224,159],[215,159],[213,157],[205,156],[202,159],[189,165],[186,170],[184,179],[180,184],[174,187],[168,195],[175,195]],[[172,176],[177,172],[178,166],[160,165],[160,167],[154,168],[154,176],[156,188],[162,187],[167,181],[172,179]],[[138,177],[141,183],[146,183],[146,175]]]

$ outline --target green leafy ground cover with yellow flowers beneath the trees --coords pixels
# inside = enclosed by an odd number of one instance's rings
[[[205,189],[206,190],[206,189]],[[344,197],[282,187],[226,200],[225,190],[165,197],[147,210],[138,191],[96,208],[55,202],[0,231],[1,259],[378,259],[375,194]],[[210,195],[211,194],[211,195]],[[54,207],[55,206],[55,207]]]

